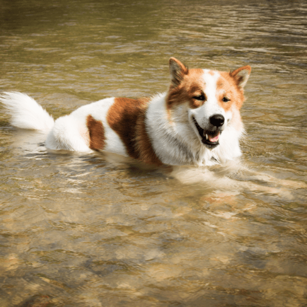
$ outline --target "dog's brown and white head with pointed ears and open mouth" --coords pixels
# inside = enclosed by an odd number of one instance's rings
[[[169,60],[171,85],[167,109],[178,126],[188,122],[193,137],[209,149],[219,144],[227,127],[241,129],[239,109],[250,66],[233,72],[187,69],[179,60]]]

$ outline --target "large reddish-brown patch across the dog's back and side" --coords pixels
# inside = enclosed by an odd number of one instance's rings
[[[146,132],[145,114],[149,99],[115,98],[106,120],[125,144],[128,155],[148,164],[162,165]]]

